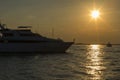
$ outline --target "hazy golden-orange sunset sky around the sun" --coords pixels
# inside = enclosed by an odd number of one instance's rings
[[[10,28],[33,26],[41,35],[77,43],[120,43],[120,0],[4,0],[0,20]],[[92,20],[90,11],[101,11]]]

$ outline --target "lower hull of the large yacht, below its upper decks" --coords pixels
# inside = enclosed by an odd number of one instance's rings
[[[73,42],[39,42],[39,43],[0,43],[0,53],[62,53]]]

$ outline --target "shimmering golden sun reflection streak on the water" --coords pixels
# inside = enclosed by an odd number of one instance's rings
[[[92,80],[101,80],[103,75],[103,60],[100,45],[89,45],[86,62],[86,72],[91,75]]]

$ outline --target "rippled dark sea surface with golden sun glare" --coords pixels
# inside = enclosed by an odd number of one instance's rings
[[[61,54],[0,56],[0,80],[120,80],[120,46],[73,45]]]

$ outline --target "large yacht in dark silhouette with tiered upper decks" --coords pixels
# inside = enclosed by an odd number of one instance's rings
[[[72,44],[73,42],[64,42],[61,39],[47,38],[33,33],[30,26],[9,29],[4,24],[0,24],[0,53],[63,53]]]

